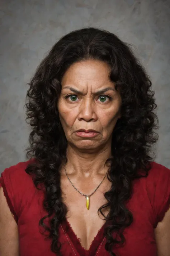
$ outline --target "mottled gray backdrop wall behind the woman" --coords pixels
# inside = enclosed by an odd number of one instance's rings
[[[1,0],[0,172],[25,160],[26,85],[66,33],[94,26],[134,45],[152,79],[159,117],[155,161],[170,168],[169,0]]]

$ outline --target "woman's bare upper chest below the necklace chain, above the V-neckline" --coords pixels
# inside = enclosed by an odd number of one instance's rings
[[[94,238],[98,235],[103,227],[105,220],[98,209],[107,203],[104,193],[106,186],[100,187],[89,197],[89,210],[86,207],[86,197],[82,196],[71,185],[69,188],[63,188],[63,202],[66,204],[68,212],[67,221],[70,224],[72,232],[79,239],[82,247],[89,250]],[[102,210],[104,215],[108,214],[106,209]]]

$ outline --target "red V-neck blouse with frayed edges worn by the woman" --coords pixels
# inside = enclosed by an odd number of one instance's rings
[[[32,177],[25,172],[27,162],[6,168],[0,184],[11,212],[18,224],[20,256],[55,256],[51,240],[42,234],[39,220],[47,214],[43,210],[43,191],[36,189]],[[133,214],[133,223],[124,230],[126,243],[113,249],[117,256],[156,256],[154,228],[170,206],[170,170],[152,162],[148,176],[133,181],[133,194],[126,206]],[[47,220],[47,219],[46,219]],[[46,223],[45,220],[45,223]],[[45,233],[47,234],[47,233]],[[59,228],[63,256],[110,256],[104,245],[104,225],[85,250],[67,219]]]

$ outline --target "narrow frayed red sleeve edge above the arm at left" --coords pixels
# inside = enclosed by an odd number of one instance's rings
[[[12,203],[12,200],[10,199],[10,196],[9,196],[9,193],[10,193],[10,192],[8,192],[8,189],[7,189],[7,187],[6,187],[6,185],[5,185],[5,182],[4,182],[4,177],[3,177],[3,176],[5,175],[6,170],[8,170],[8,169],[5,169],[4,172],[1,173],[1,177],[0,177],[0,187],[3,188],[3,192],[4,192],[4,196],[5,196],[5,198],[6,198],[6,202],[8,203],[8,206],[9,206],[9,208],[10,208],[11,214],[13,215],[13,217],[14,217],[16,223],[17,223],[17,222],[18,222],[18,217],[16,216],[16,212],[15,212],[15,209],[14,209],[14,206],[13,206],[13,203]]]

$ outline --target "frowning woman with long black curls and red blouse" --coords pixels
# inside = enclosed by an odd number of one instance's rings
[[[0,255],[168,256],[170,170],[150,154],[154,92],[129,46],[71,32],[29,86],[29,160],[1,175]]]

